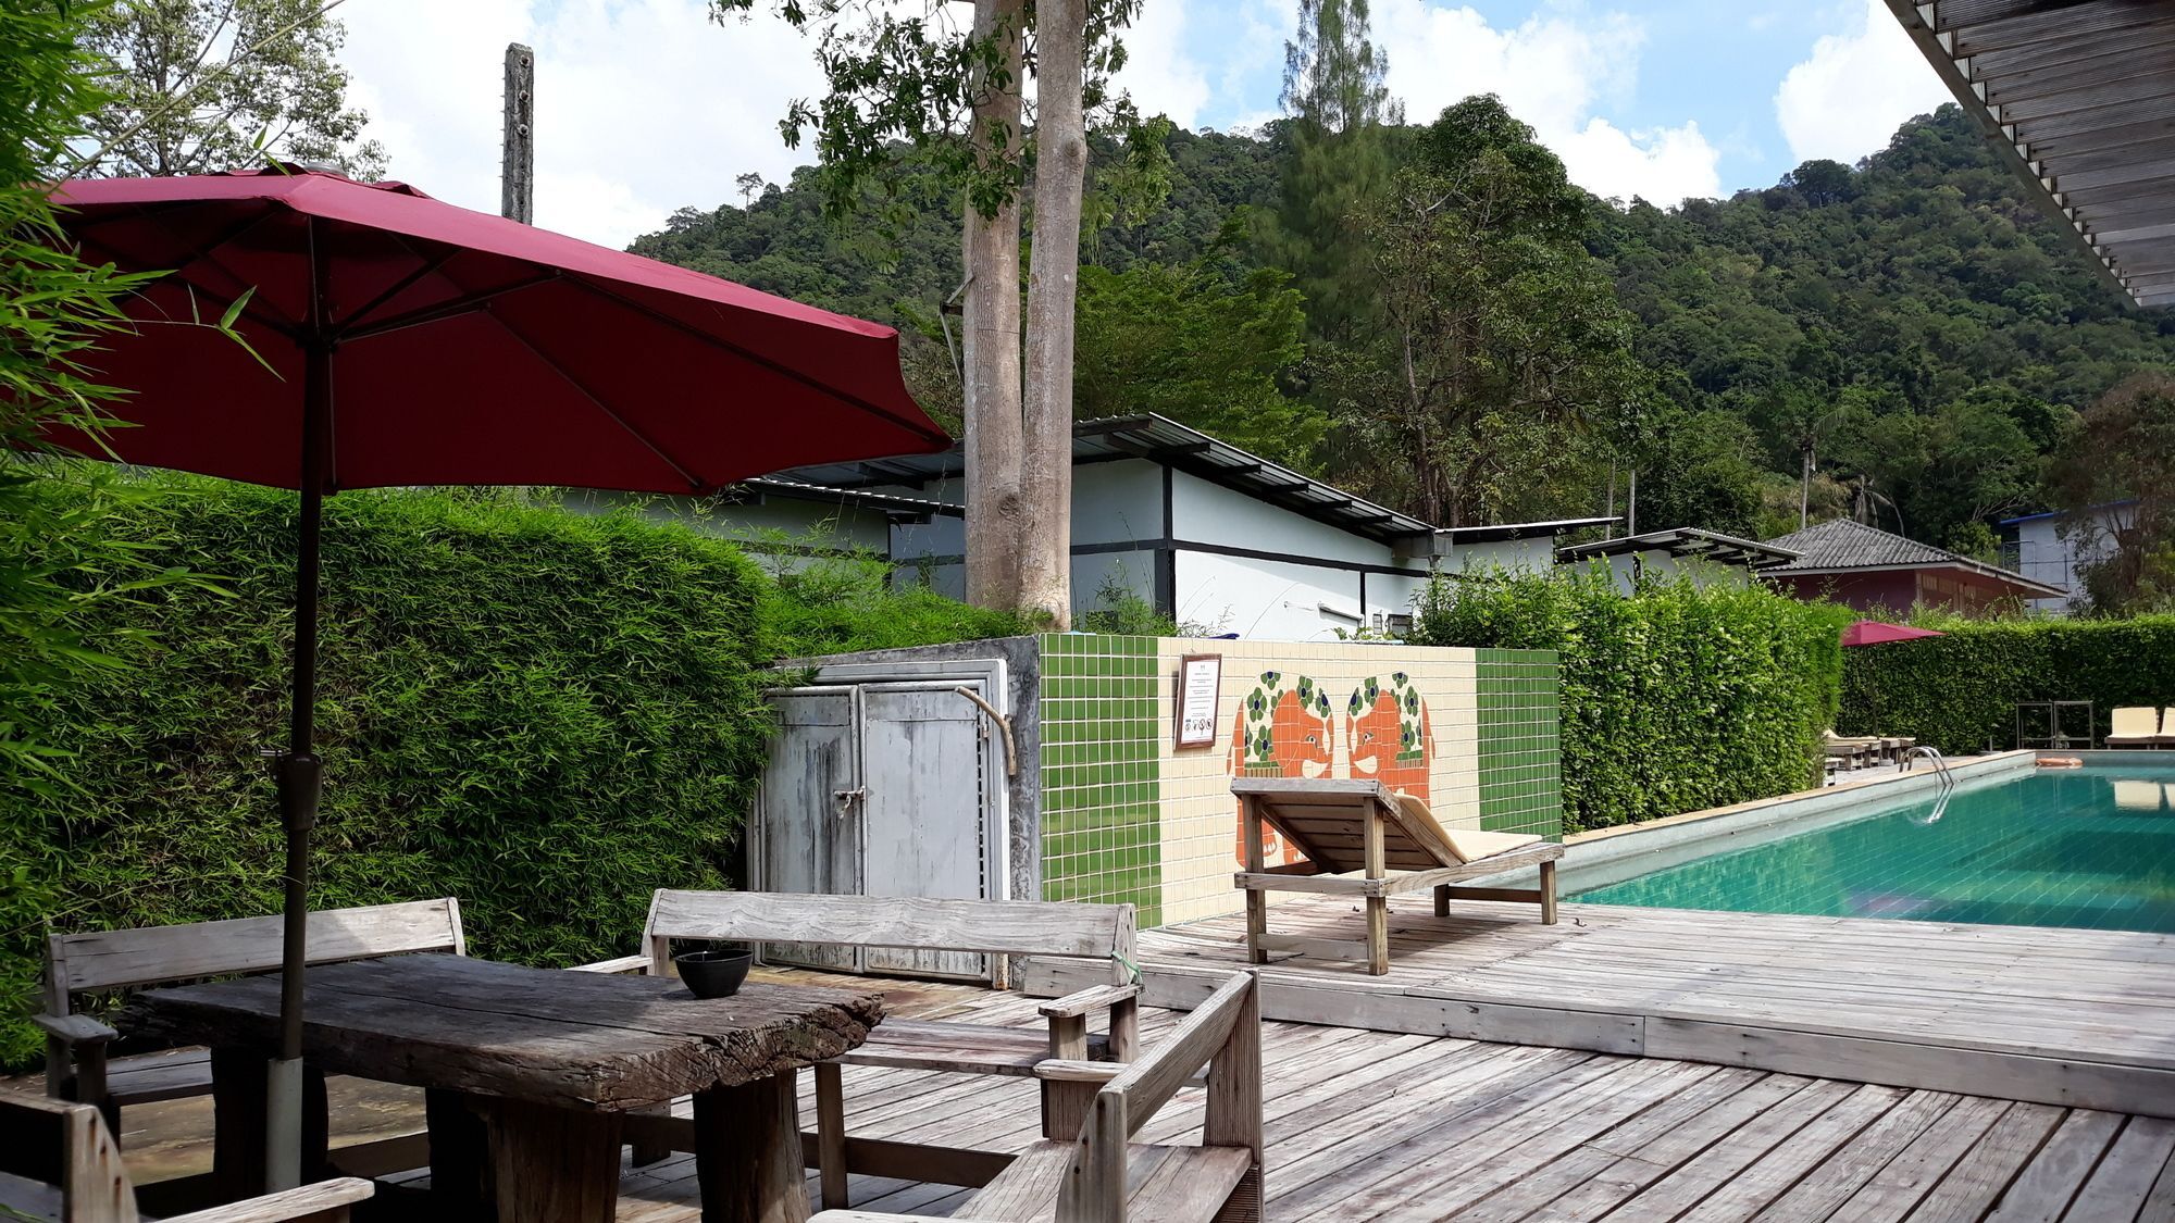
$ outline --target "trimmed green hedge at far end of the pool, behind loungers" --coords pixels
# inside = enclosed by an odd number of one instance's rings
[[[1847,651],[1838,729],[1962,755],[2016,746],[2018,701],[2092,701],[2095,738],[2116,705],[2175,705],[2175,616],[1914,625],[1947,635]]]

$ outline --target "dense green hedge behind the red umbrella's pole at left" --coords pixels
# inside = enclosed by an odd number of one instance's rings
[[[63,694],[78,792],[9,796],[0,1005],[30,1010],[37,931],[278,907],[294,494],[170,481],[122,531],[226,596],[126,614],[135,668]],[[724,886],[761,768],[766,579],[726,542],[511,494],[326,503],[315,905],[461,897],[472,949],[633,949],[657,886]],[[0,1027],[0,1062],[41,1047]]]

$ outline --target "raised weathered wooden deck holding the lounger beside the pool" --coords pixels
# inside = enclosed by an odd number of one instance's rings
[[[1275,921],[1353,938],[1364,918],[1307,897]],[[2171,936],[1620,905],[1546,927],[1425,897],[1392,905],[1390,936],[1385,977],[1277,953],[1264,1014],[2175,1116]],[[1192,1005],[1244,966],[1244,918],[1142,931],[1142,960],[1151,1005]]]

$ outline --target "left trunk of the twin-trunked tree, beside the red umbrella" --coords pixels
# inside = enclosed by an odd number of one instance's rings
[[[1020,46],[1024,0],[974,0],[974,37],[1003,41],[1005,81],[977,81],[974,141],[985,163],[1018,157]],[[1020,420],[1020,205],[992,215],[966,205],[966,598],[979,607],[1018,609],[1020,522],[1031,518],[1022,485]]]

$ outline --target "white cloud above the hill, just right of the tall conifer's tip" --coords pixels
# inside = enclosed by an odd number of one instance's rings
[[[1720,194],[1720,150],[1699,124],[1627,131],[1594,113],[1629,100],[1638,83],[1646,33],[1625,13],[1557,7],[1499,30],[1475,9],[1388,0],[1375,9],[1375,37],[1409,122],[1496,94],[1596,196],[1675,205]]]

